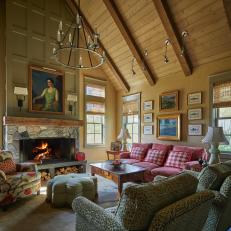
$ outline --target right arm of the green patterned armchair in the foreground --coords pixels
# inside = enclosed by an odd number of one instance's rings
[[[149,231],[185,231],[189,227],[201,231],[213,198],[211,191],[198,192],[159,210]]]

